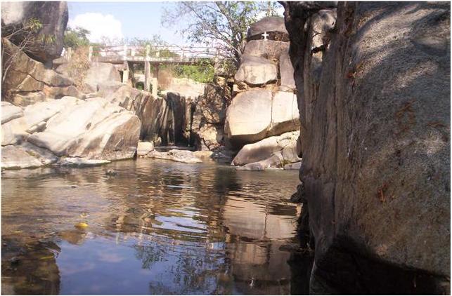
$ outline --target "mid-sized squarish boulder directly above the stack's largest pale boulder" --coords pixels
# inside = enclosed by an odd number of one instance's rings
[[[252,55],[242,55],[240,67],[234,76],[236,81],[251,85],[264,84],[278,79],[278,69],[266,58]]]

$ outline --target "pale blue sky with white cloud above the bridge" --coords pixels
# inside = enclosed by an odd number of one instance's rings
[[[174,2],[79,2],[68,1],[69,24],[90,29],[91,41],[98,36],[111,38],[150,38],[160,34],[170,43],[185,43],[177,27],[164,28],[160,20],[164,7],[174,6]]]

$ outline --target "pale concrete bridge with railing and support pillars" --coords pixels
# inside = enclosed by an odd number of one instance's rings
[[[144,64],[144,90],[157,96],[157,77],[160,65],[214,64],[222,59],[219,49],[201,46],[90,46],[89,61],[123,65],[122,82],[127,83],[133,64]],[[151,73],[151,65],[153,73]]]

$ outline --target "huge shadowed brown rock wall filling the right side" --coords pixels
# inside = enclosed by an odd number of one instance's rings
[[[450,292],[450,4],[283,5],[311,292]]]

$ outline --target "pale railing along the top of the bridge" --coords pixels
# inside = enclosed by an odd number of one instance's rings
[[[212,59],[217,48],[202,46],[91,46],[89,60],[172,60]]]

